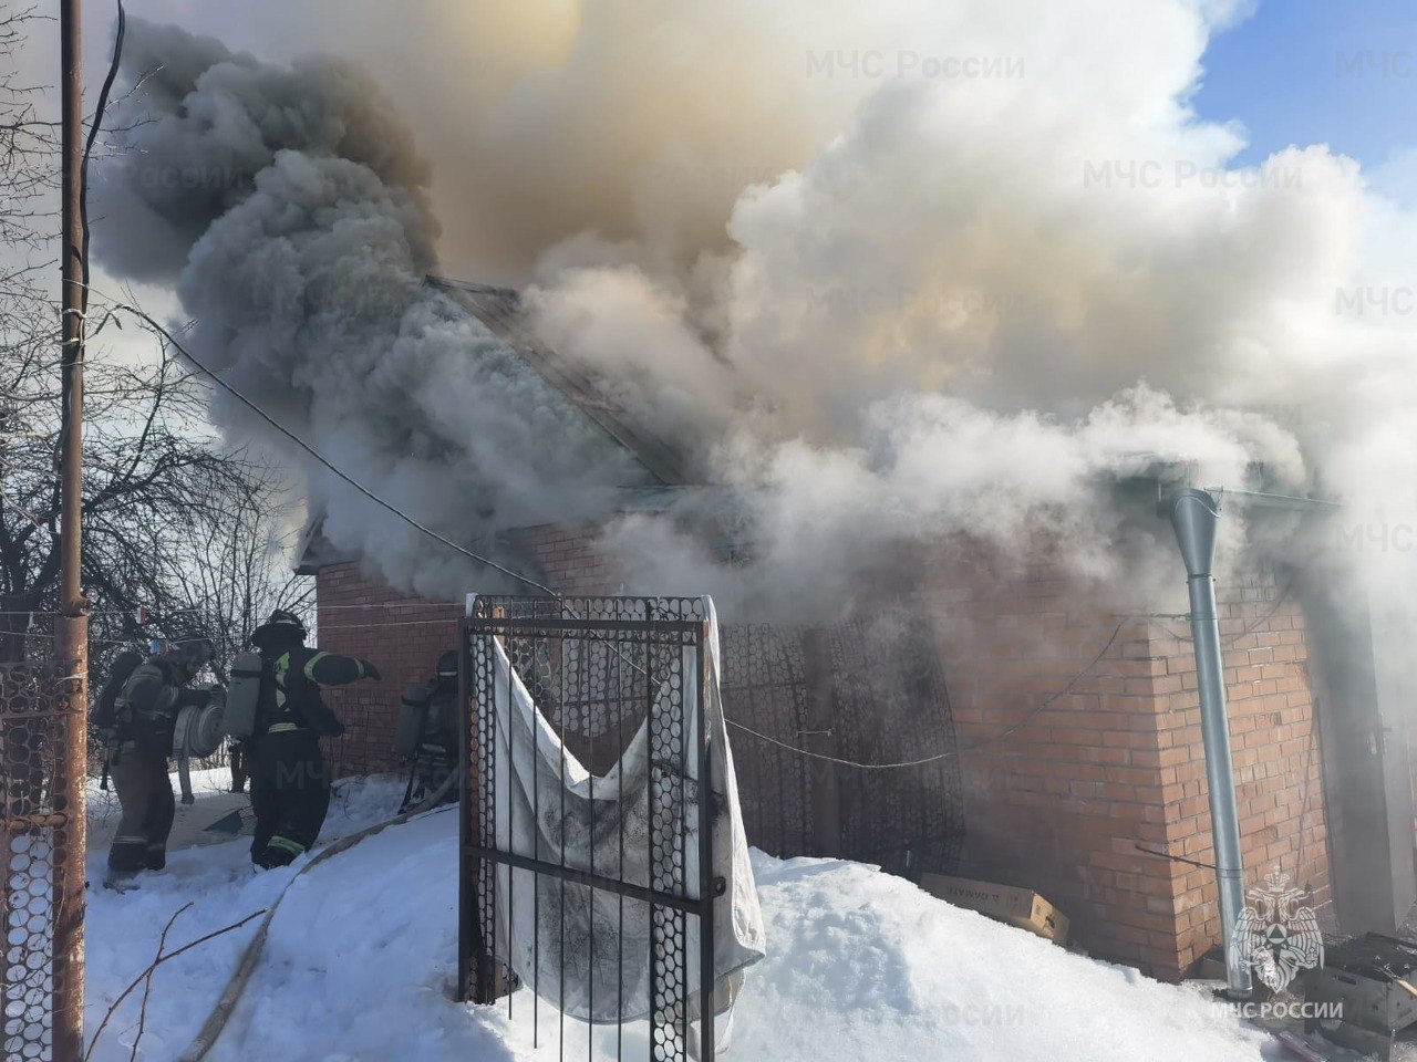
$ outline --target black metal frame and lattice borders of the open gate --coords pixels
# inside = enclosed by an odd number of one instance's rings
[[[514,984],[510,987],[502,977],[502,971],[497,966],[496,959],[496,942],[487,946],[483,939],[483,898],[482,898],[482,882],[483,877],[487,881],[496,882],[496,865],[503,865],[507,868],[509,885],[513,881],[513,872],[517,869],[529,871],[534,875],[534,879],[541,877],[550,877],[560,879],[563,882],[571,882],[577,885],[588,886],[592,893],[595,889],[604,892],[616,893],[628,899],[642,901],[649,905],[648,916],[650,925],[650,981],[646,988],[648,1004],[649,1004],[649,1056],[652,1062],[672,1062],[673,1059],[691,1056],[690,1054],[690,1014],[689,1014],[689,966],[687,966],[687,940],[690,933],[689,916],[696,918],[694,932],[699,936],[699,1062],[714,1062],[714,994],[716,994],[716,970],[714,970],[714,903],[720,895],[723,895],[726,882],[721,877],[714,875],[713,865],[713,843],[714,843],[714,818],[717,817],[718,809],[716,806],[716,796],[713,793],[713,776],[711,776],[711,756],[710,756],[710,732],[706,718],[706,691],[713,674],[710,671],[710,661],[707,654],[707,646],[710,639],[710,622],[708,616],[708,602],[707,599],[699,598],[591,598],[591,599],[565,599],[565,598],[486,598],[492,602],[495,612],[504,612],[504,606],[517,605],[531,605],[546,607],[547,605],[558,606],[560,617],[523,617],[523,616],[507,616],[507,615],[493,615],[493,616],[478,616],[475,615],[478,595],[468,595],[466,615],[459,622],[458,629],[458,694],[462,711],[459,712],[459,735],[462,742],[462,755],[465,756],[465,767],[459,772],[459,860],[458,860],[458,1000],[472,1001],[478,1004],[492,1004],[500,995],[507,997],[507,1014],[512,1014],[512,993]],[[646,619],[626,619],[622,617],[621,609],[625,606],[640,606]],[[612,619],[584,619],[580,615],[594,615],[597,612],[612,612],[615,617]],[[580,613],[580,615],[578,615]],[[676,616],[674,619],[656,619],[656,613]],[[690,617],[684,617],[686,613]],[[548,643],[564,644],[568,636],[580,634],[582,640],[604,640],[609,646],[635,646],[639,643],[645,644],[645,660],[646,666],[650,661],[650,653],[655,647],[663,647],[670,650],[679,660],[683,660],[684,650],[693,650],[693,666],[696,668],[697,681],[694,683],[694,704],[686,707],[687,711],[683,718],[687,722],[684,732],[680,738],[683,742],[683,763],[687,765],[687,756],[690,753],[689,742],[690,735],[697,732],[699,748],[696,753],[699,756],[699,800],[697,800],[697,826],[699,826],[699,898],[691,899],[689,896],[689,881],[687,881],[687,864],[679,871],[673,869],[673,861],[669,861],[669,871],[672,877],[679,878],[674,885],[677,885],[680,893],[665,892],[653,888],[656,867],[662,865],[663,861],[655,861],[650,855],[650,872],[649,885],[636,885],[632,882],[621,881],[614,877],[606,877],[602,874],[592,874],[589,871],[581,871],[570,867],[561,865],[561,862],[550,862],[543,858],[531,858],[526,855],[517,855],[510,851],[502,851],[496,847],[496,838],[493,837],[490,843],[483,843],[482,831],[492,826],[496,830],[496,762],[497,749],[496,742],[493,742],[493,749],[490,755],[482,755],[478,748],[478,735],[495,733],[495,719],[496,719],[496,698],[479,698],[478,690],[473,681],[473,641],[475,639],[490,639],[499,640],[507,636],[523,636],[523,637],[538,637]],[[632,637],[625,637],[626,634]],[[619,636],[616,639],[616,636]],[[639,636],[639,637],[633,637]],[[656,640],[657,636],[657,640]],[[504,646],[504,643],[503,643]],[[506,649],[503,650],[506,651]],[[509,666],[514,668],[514,661],[512,654],[507,654]],[[632,661],[631,661],[632,663]],[[632,663],[633,666],[633,663]],[[677,664],[674,667],[679,667]],[[646,673],[646,677],[648,673]],[[646,690],[649,691],[645,726],[650,728],[653,733],[655,728],[655,704],[656,698],[653,695],[655,684],[652,681],[646,683]],[[683,691],[683,687],[682,687]],[[687,691],[683,691],[687,695]],[[537,712],[541,708],[537,705]],[[490,725],[489,725],[490,721]],[[558,728],[563,743],[565,738],[565,725]],[[619,755],[623,755],[623,748],[619,749]],[[490,766],[490,779],[483,784],[483,767]],[[650,783],[653,784],[653,783]],[[680,784],[683,784],[680,782]],[[492,797],[490,809],[483,801],[483,793]],[[648,797],[652,801],[652,796]],[[509,809],[509,816],[512,814]],[[649,809],[649,835],[646,838],[646,848],[649,852],[655,850],[656,830],[655,830],[655,811],[650,803]],[[679,834],[680,838],[687,835],[689,826],[693,820],[690,818],[689,803],[682,799],[679,810]],[[510,827],[510,823],[509,823]],[[623,824],[621,826],[623,831]],[[564,852],[563,852],[564,858]],[[490,872],[487,865],[492,865]],[[536,882],[533,884],[536,888]],[[563,893],[564,895],[564,893]],[[563,901],[564,902],[564,901]],[[496,903],[496,899],[492,899]],[[666,998],[663,993],[663,983],[666,980],[662,964],[656,961],[657,954],[653,942],[657,939],[656,925],[659,912],[662,910],[679,912],[683,918],[683,940],[684,940],[684,957],[682,963],[682,976],[679,984],[673,986],[677,991],[679,1000],[679,1017],[674,1017],[672,1010],[657,1005],[659,1000]],[[509,932],[512,926],[510,912],[509,912]],[[493,933],[496,927],[493,925]],[[619,926],[619,932],[623,932],[623,923]],[[564,963],[564,957],[563,957]],[[510,970],[510,966],[507,966]],[[594,967],[592,967],[594,970]],[[594,973],[592,973],[594,981]],[[564,1020],[564,1012],[563,1020]],[[592,1027],[597,1022],[587,1021],[587,1025]],[[599,1022],[611,1024],[611,1022]],[[623,1025],[623,1018],[619,1018],[619,1025]],[[666,1025],[677,1029],[679,1025],[683,1027],[682,1038],[676,1035],[660,1037],[657,1035],[660,1028]],[[564,1056],[564,1044],[563,1044]]]

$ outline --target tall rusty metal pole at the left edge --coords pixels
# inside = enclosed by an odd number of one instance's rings
[[[54,1011],[55,1062],[84,1058],[84,782],[88,766],[88,602],[81,585],[84,511],[84,289],[88,246],[82,219],[84,67],[79,0],[60,0],[61,234],[64,346],[60,354],[64,438],[60,455],[60,602],[54,666],[62,680],[51,731],[55,745]]]

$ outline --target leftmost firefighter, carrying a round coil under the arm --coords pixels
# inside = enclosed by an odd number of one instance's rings
[[[173,728],[179,711],[205,707],[213,697],[211,690],[188,688],[211,661],[211,641],[154,643],[153,650],[133,668],[115,705],[111,773],[122,817],[108,850],[103,884],[119,892],[136,888],[140,871],[167,865],[167,835],[177,810],[167,773]]]

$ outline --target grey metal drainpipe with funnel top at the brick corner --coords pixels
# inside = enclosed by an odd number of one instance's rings
[[[1183,490],[1170,501],[1180,556],[1190,590],[1190,633],[1196,649],[1196,684],[1200,688],[1200,733],[1206,746],[1206,782],[1210,790],[1210,828],[1216,847],[1216,881],[1220,886],[1220,930],[1224,935],[1226,984],[1236,998],[1250,998],[1248,956],[1236,947],[1234,930],[1244,909],[1244,864],[1240,855],[1240,814],[1236,809],[1234,767],[1230,760],[1230,721],[1226,716],[1226,678],[1220,657],[1220,620],[1216,585],[1210,575],[1216,558],[1220,507],[1203,490]]]

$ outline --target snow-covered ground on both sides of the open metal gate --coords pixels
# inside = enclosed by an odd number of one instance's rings
[[[395,779],[336,797],[323,840],[378,821]],[[215,796],[215,794],[213,794]],[[201,800],[201,797],[198,797]],[[281,905],[265,957],[211,1058],[215,1062],[557,1058],[555,1015],[531,997],[478,1008],[451,1000],[455,964],[456,816],[434,811],[315,868]],[[89,895],[88,1028],[152,961],[167,919],[188,901],[169,950],[266,906],[295,869],[254,875],[245,840],[174,852],[145,886]],[[95,852],[99,858],[101,852]],[[750,971],[730,1062],[1227,1062],[1278,1059],[1254,1031],[1192,988],[1070,954],[1022,930],[927,896],[857,864],[755,854],[769,956]],[[173,1059],[205,1018],[255,923],[160,967],[140,1058]],[[137,997],[111,1021],[95,1062],[126,1059]],[[615,1058],[614,1038],[604,1029]],[[587,1058],[567,1022],[567,1058]],[[625,1058],[643,1058],[628,1029]],[[575,1051],[572,1054],[572,1045]]]

